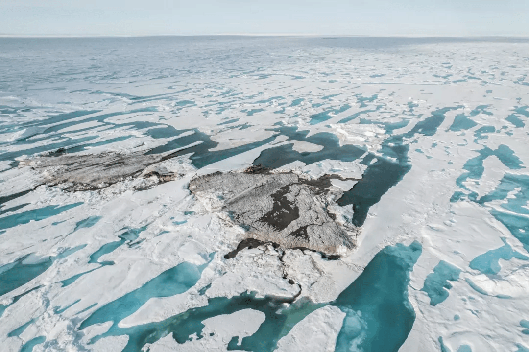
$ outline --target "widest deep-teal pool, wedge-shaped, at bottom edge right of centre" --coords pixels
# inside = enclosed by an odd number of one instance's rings
[[[382,249],[358,279],[331,302],[347,314],[336,351],[349,351],[351,344],[363,352],[398,351],[415,321],[408,301],[409,272],[421,253],[417,242]]]

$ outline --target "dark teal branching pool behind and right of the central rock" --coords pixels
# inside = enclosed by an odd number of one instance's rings
[[[377,158],[376,155],[369,153],[360,162],[368,165],[364,171],[362,178],[354,185],[354,187],[346,191],[338,200],[338,205],[346,206],[352,205],[354,216],[352,222],[356,226],[363,225],[367,218],[369,208],[380,201],[381,197],[391,188],[394,187],[404,175],[412,168],[408,160],[409,145],[405,140],[414,137],[416,134],[423,134],[425,136],[432,136],[437,131],[437,128],[443,123],[445,114],[450,110],[458,109],[460,107],[447,107],[435,110],[432,116],[427,117],[424,121],[418,122],[411,131],[389,136],[383,143],[379,152],[384,156],[395,158],[396,161],[385,158]],[[393,129],[407,125],[407,121],[403,121],[397,125],[385,126],[388,134],[391,134]],[[311,164],[325,159],[354,161],[360,158],[366,150],[359,146],[343,145],[340,146],[338,137],[332,133],[316,133],[307,137],[308,131],[297,131],[297,127],[279,126],[274,129],[281,135],[288,136],[288,140],[305,141],[323,146],[323,149],[318,152],[299,153],[292,149],[291,144],[271,147],[261,152],[259,157],[253,161],[254,165],[261,164],[268,168],[280,168],[286,164],[296,160],[302,161],[305,164]],[[373,159],[377,158],[375,163],[371,163]]]

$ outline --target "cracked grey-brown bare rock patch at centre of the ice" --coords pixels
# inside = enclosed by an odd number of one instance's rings
[[[332,179],[343,180],[328,174],[311,180],[253,166],[245,172],[197,177],[189,189],[212,210],[228,212],[248,238],[285,248],[344,253],[356,246],[358,229],[332,211],[330,206],[341,196],[332,189]]]

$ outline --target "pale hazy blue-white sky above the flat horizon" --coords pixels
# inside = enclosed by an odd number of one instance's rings
[[[529,0],[0,0],[4,35],[529,36]]]

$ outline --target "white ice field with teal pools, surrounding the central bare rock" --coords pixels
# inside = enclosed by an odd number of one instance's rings
[[[529,351],[528,68],[525,39],[0,38],[1,349]],[[347,179],[357,247],[226,258],[248,229],[189,181],[252,165]]]

